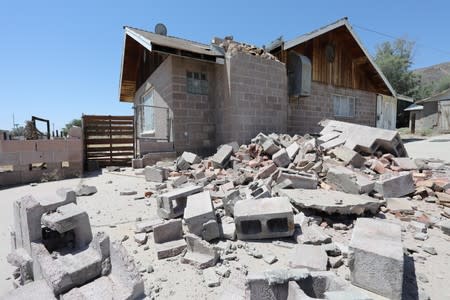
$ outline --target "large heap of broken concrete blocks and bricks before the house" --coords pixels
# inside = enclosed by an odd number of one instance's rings
[[[427,241],[430,232],[433,238],[450,235],[449,166],[408,158],[395,131],[337,121],[323,125],[317,136],[259,133],[250,144],[225,144],[211,157],[184,152],[174,162],[136,170],[158,217],[136,220],[134,243],[152,251],[154,262],[166,261],[170,272],[181,266],[196,270],[205,289],[245,278],[242,291],[227,288],[224,298],[373,299],[366,294],[371,292],[428,299],[408,266],[445,255]],[[49,210],[42,222],[58,232],[66,223],[53,214],[82,215]],[[124,242],[130,243],[128,236]],[[21,258],[11,259],[23,273],[23,288],[32,277],[27,257],[36,255],[27,251],[17,250]],[[249,272],[243,263],[249,259],[268,269]],[[99,270],[99,279],[74,281],[81,287],[68,294],[75,297],[109,276]],[[141,276],[145,272],[163,271],[145,268]],[[35,282],[45,278],[33,276]],[[418,278],[420,285],[426,282]],[[160,285],[151,287],[146,295],[158,298]]]

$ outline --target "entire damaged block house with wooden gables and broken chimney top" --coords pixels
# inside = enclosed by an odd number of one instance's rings
[[[395,128],[395,91],[346,18],[265,49],[158,28],[124,27],[120,101],[133,103],[138,155],[315,133],[324,118]]]

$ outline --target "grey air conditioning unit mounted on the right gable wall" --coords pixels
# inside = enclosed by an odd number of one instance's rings
[[[288,92],[289,97],[311,95],[311,61],[295,51],[288,53]]]

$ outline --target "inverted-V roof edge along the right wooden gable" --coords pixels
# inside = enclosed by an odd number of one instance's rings
[[[392,88],[391,84],[389,83],[389,81],[387,80],[387,78],[384,76],[383,72],[381,72],[381,69],[378,67],[378,65],[375,63],[375,61],[372,59],[372,57],[370,56],[369,52],[367,51],[367,49],[363,46],[363,44],[361,43],[361,41],[359,40],[358,36],[356,35],[356,33],[354,32],[352,26],[350,25],[350,23],[348,22],[347,18],[343,18],[340,20],[337,20],[334,23],[331,23],[327,26],[324,26],[322,28],[316,29],[314,31],[311,31],[310,33],[301,35],[299,37],[296,37],[293,40],[287,41],[284,43],[284,50],[288,50],[290,48],[293,48],[299,44],[302,44],[304,42],[307,42],[315,37],[318,37],[322,34],[325,34],[327,32],[330,32],[332,30],[335,30],[341,26],[345,26],[347,28],[347,30],[350,32],[350,34],[352,35],[353,39],[356,41],[356,43],[358,44],[358,46],[361,48],[361,50],[363,51],[364,55],[367,57],[367,59],[369,60],[370,64],[374,67],[374,69],[376,70],[376,72],[380,75],[381,79],[383,80],[383,82],[386,84],[387,88],[389,89],[389,91],[392,93],[392,95],[394,97],[397,97],[397,93],[395,92],[395,90]]]

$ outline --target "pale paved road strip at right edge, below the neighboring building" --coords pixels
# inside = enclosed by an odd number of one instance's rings
[[[437,158],[450,162],[450,134],[405,142],[406,150],[412,158]]]

